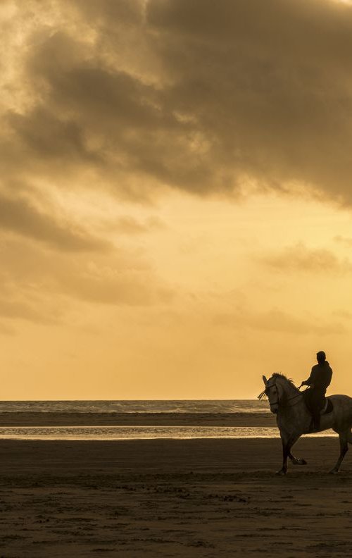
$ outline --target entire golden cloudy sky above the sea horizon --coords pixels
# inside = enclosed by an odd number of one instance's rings
[[[1,0],[1,399],[352,394],[352,4]]]

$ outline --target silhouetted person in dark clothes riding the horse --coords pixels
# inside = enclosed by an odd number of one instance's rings
[[[325,393],[332,379],[332,369],[326,358],[324,351],[317,353],[318,364],[313,366],[308,380],[301,384],[310,386],[307,395],[308,404],[313,414],[314,430],[320,428],[320,411],[324,407]]]

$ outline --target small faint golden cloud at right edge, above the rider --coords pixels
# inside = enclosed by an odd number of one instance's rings
[[[298,243],[287,247],[278,254],[265,256],[261,261],[277,271],[299,271],[307,273],[350,273],[352,263],[348,259],[339,259],[328,249],[308,249]]]

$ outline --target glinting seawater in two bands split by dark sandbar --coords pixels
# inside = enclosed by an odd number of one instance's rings
[[[249,426],[177,426],[177,415],[268,414],[268,402],[257,399],[2,401],[1,413],[172,413],[175,426],[2,426],[8,440],[151,440],[191,438],[278,438],[279,430]],[[334,436],[332,430],[313,436]]]

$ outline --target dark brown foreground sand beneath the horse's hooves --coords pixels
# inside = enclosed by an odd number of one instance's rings
[[[350,557],[352,463],[300,440],[0,441],[0,557]]]

